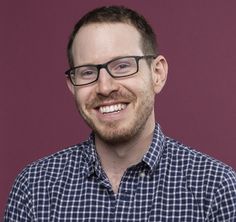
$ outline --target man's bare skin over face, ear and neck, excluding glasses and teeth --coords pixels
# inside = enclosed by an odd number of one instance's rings
[[[94,23],[83,26],[72,45],[75,66],[101,64],[120,56],[144,55],[139,32],[124,23]],[[103,168],[118,190],[124,171],[140,161],[148,150],[155,127],[154,100],[167,78],[167,62],[158,56],[149,66],[139,61],[139,72],[114,79],[105,69],[97,82],[73,86],[67,80],[78,111],[95,132]],[[102,114],[99,107],[124,104],[119,112]]]

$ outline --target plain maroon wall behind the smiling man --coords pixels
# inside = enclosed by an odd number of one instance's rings
[[[236,168],[234,0],[1,0],[0,217],[26,164],[87,137],[65,85],[65,47],[76,20],[107,3],[140,11],[158,34],[169,62],[156,103],[164,132]]]

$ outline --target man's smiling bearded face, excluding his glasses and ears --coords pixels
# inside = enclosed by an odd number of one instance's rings
[[[72,46],[74,66],[102,64],[121,56],[142,56],[140,34],[123,23],[94,23],[82,27]],[[153,130],[155,77],[145,59],[139,61],[139,72],[121,79],[100,70],[97,82],[87,86],[68,86],[77,108],[105,142],[127,141]]]

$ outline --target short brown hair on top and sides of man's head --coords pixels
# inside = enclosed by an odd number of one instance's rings
[[[72,44],[80,28],[91,23],[127,23],[133,25],[142,37],[142,50],[146,54],[156,55],[158,44],[156,35],[146,19],[137,12],[124,6],[104,6],[85,14],[74,26],[67,45],[67,56],[70,67],[74,66]]]

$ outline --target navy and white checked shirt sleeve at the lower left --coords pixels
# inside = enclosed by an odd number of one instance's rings
[[[15,184],[10,192],[4,221],[5,222],[20,222],[34,221],[32,216],[31,194],[27,186],[27,177],[23,172],[15,181]]]

